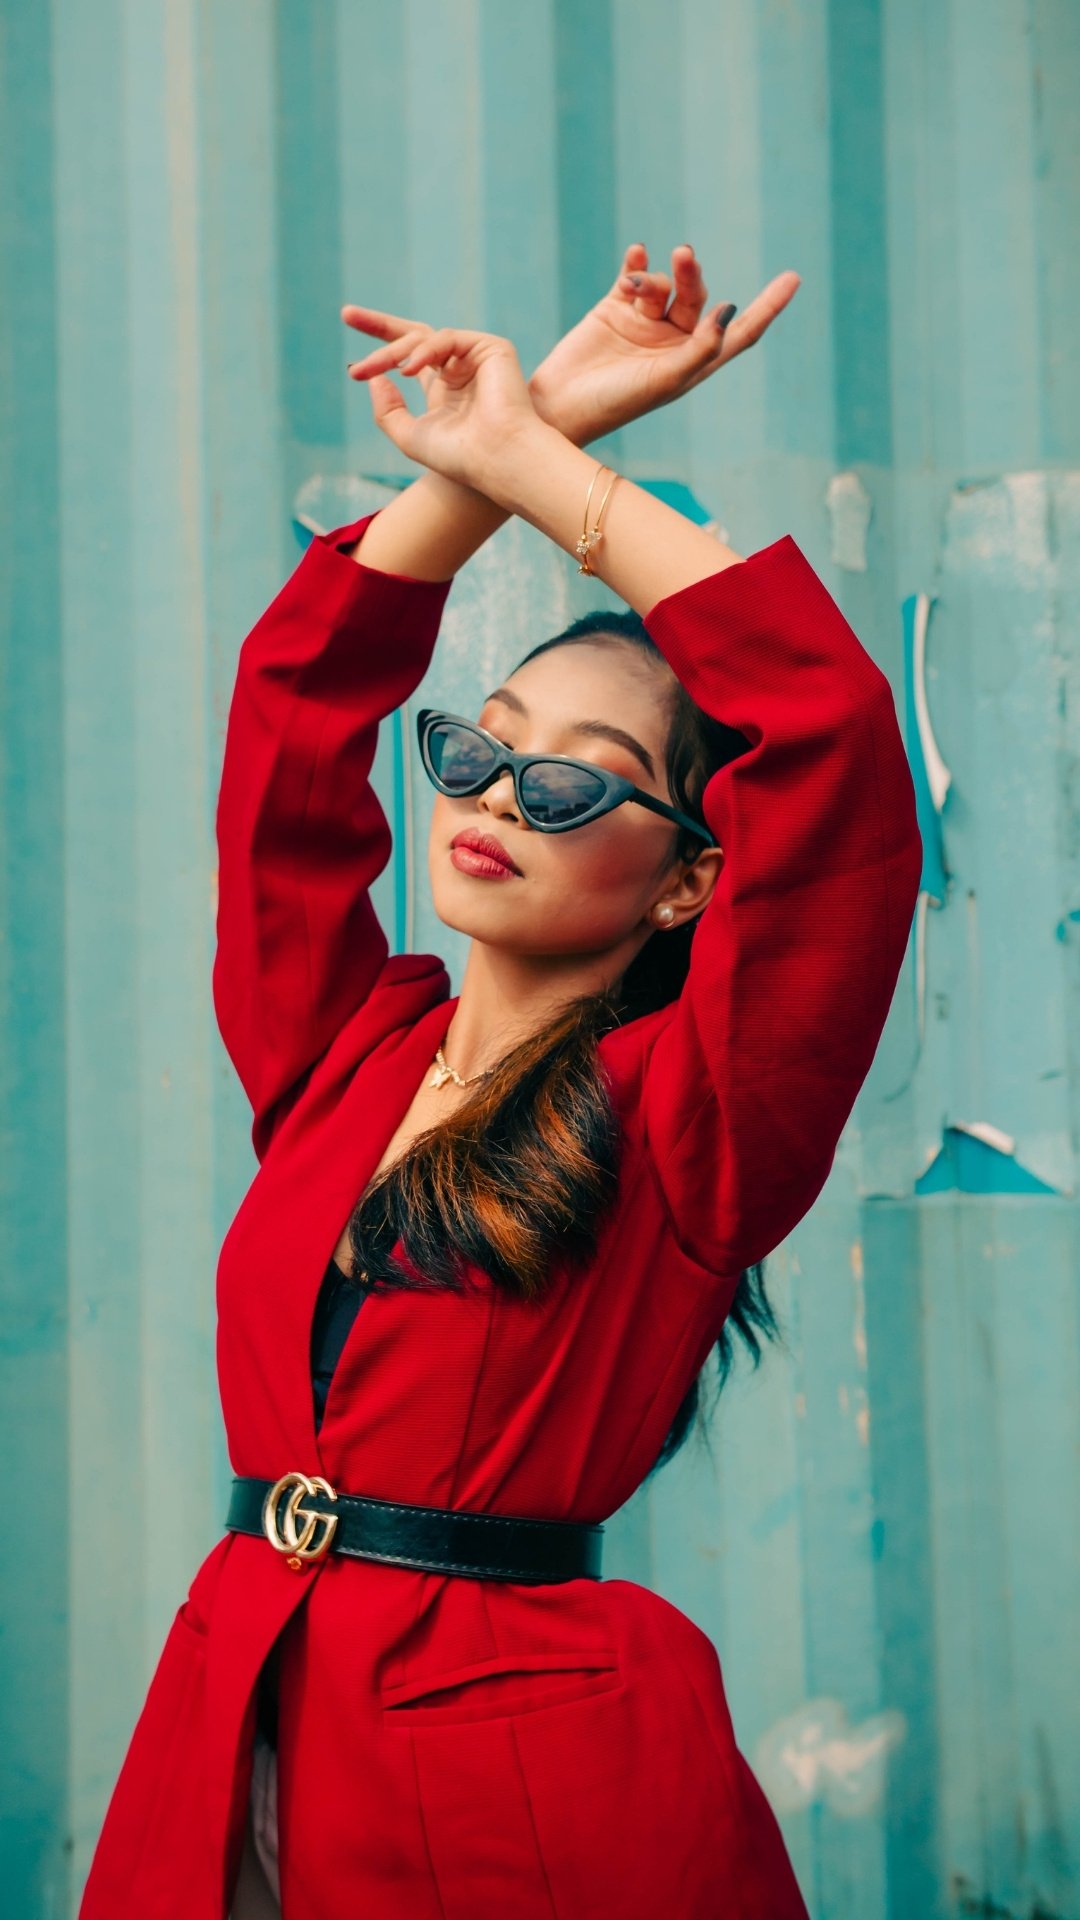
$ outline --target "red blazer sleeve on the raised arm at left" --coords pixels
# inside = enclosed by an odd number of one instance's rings
[[[369,887],[390,828],[369,772],[379,722],[427,672],[454,582],[352,561],[342,549],[373,518],[311,540],[240,647],[229,707],[213,1006],[256,1152],[388,954]]]

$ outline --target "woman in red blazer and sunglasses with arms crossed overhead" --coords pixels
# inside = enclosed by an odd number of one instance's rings
[[[890,685],[796,541],[740,559],[582,451],[798,275],[724,328],[690,250],[625,269],[528,384],[507,340],[344,309],[427,472],[313,540],[240,651],[213,973],[259,1160],[219,1263],[236,1486],[83,1920],[279,1893],[286,1920],[805,1920],[711,1642],[598,1576],[600,1523],[736,1300],[767,1317],[748,1275],[828,1175],[920,841]],[[450,996],[373,916],[367,774],[509,513],[630,612],[419,716],[434,906],[471,935]]]

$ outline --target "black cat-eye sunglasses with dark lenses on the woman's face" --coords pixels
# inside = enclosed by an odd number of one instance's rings
[[[651,814],[675,820],[707,847],[719,845],[701,820],[692,820],[678,806],[657,801],[653,793],[594,760],[573,760],[565,753],[511,753],[482,726],[434,707],[423,707],[417,714],[417,739],[427,778],[452,799],[482,793],[509,768],[519,812],[538,833],[569,833],[571,828],[609,814],[623,801],[636,801]]]

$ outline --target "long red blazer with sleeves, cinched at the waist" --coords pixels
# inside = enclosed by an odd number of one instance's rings
[[[790,536],[646,616],[751,741],[713,776],[726,852],[676,1004],[605,1035],[621,1198],[542,1308],[365,1300],[315,1438],[309,1329],[352,1206],[455,1000],[388,954],[379,722],[421,682],[448,582],[317,538],[240,649],[217,810],[213,998],[258,1173],[221,1248],[217,1361],[240,1475],[603,1521],[655,1461],[740,1271],[828,1175],[920,877],[890,684]],[[254,1690],[282,1636],[286,1920],[805,1920],[709,1638],[632,1580],[527,1586],[225,1534],[135,1728],[83,1920],[225,1920]],[[769,1647],[761,1649],[769,1657]]]

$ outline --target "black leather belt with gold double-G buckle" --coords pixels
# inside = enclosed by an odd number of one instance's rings
[[[233,1480],[225,1524],[236,1534],[261,1534],[296,1572],[332,1549],[479,1580],[600,1580],[603,1549],[600,1523],[405,1507],[336,1494],[319,1475],[304,1473],[273,1482]]]

